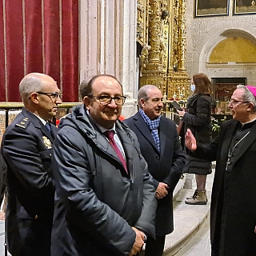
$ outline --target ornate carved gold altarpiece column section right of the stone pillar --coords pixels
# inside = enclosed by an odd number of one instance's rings
[[[138,0],[139,86],[158,86],[170,100],[189,96],[185,11],[185,0]]]

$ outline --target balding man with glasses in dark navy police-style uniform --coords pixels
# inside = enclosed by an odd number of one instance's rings
[[[46,74],[27,74],[19,91],[24,108],[2,138],[7,165],[7,249],[13,256],[50,256],[51,154],[57,128],[49,120],[62,101],[56,82]]]

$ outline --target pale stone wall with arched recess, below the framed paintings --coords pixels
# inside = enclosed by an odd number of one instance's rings
[[[207,63],[214,46],[227,37],[241,36],[256,45],[256,14],[234,15],[233,4],[230,0],[228,16],[194,18],[194,0],[186,0],[186,69],[190,76],[202,72],[209,78],[246,77],[248,84],[256,86],[256,63]]]

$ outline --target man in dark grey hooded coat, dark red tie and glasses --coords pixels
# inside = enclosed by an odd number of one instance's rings
[[[134,133],[118,120],[117,78],[80,85],[83,104],[60,122],[54,146],[52,255],[136,255],[154,237],[152,177]]]

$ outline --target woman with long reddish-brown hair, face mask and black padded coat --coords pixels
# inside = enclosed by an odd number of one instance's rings
[[[189,128],[197,142],[210,143],[211,140],[211,83],[206,74],[194,74],[191,81],[193,94],[187,99],[186,111],[179,111],[184,123],[184,132]],[[186,203],[190,205],[206,205],[206,178],[211,174],[211,162],[193,158],[186,154],[184,173],[195,174],[197,189]]]

